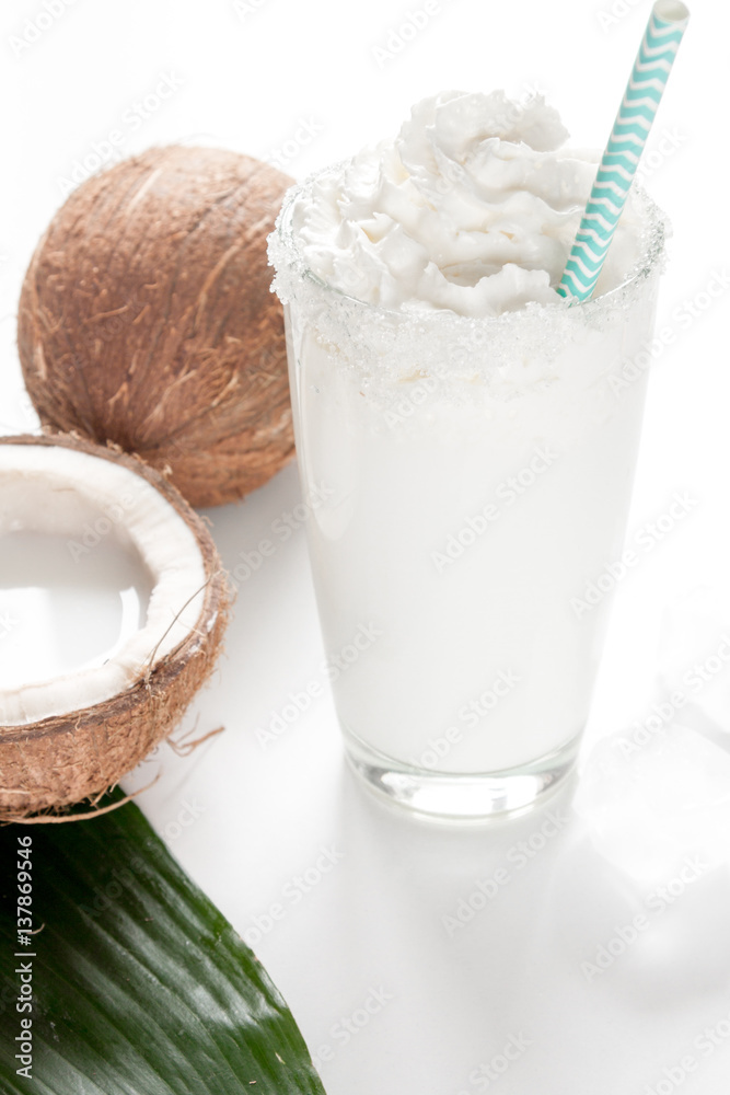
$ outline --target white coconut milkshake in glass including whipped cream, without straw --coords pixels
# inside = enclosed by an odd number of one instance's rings
[[[290,193],[286,303],[309,543],[350,759],[425,812],[569,771],[621,556],[663,221],[635,194],[594,300],[556,292],[596,154],[541,96],[444,93]],[[627,374],[630,370],[627,370]],[[635,372],[630,372],[635,376]],[[358,629],[369,643],[354,645]]]

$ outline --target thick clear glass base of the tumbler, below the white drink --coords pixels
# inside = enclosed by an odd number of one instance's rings
[[[382,800],[443,821],[488,821],[541,806],[572,773],[580,735],[530,764],[503,772],[443,773],[417,769],[371,749],[344,729],[347,759]]]

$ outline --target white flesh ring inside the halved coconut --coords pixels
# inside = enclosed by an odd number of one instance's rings
[[[61,538],[77,558],[103,550],[103,541],[113,538],[138,568],[141,564],[149,598],[127,606],[126,633],[103,664],[92,659],[46,680],[24,675],[12,684],[4,681],[1,725],[36,723],[111,700],[151,672],[199,625],[207,575],[195,533],[151,483],[128,468],[70,448],[0,446],[0,538],[22,533]],[[42,585],[43,576],[38,579]],[[213,623],[215,618],[207,630]]]

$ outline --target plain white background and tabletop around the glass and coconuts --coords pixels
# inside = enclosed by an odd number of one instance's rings
[[[266,158],[305,119],[317,132],[286,163],[301,177],[392,134],[424,95],[450,87],[520,95],[536,84],[577,145],[601,146],[649,11],[628,0],[615,0],[613,14],[612,0],[440,0],[414,41],[379,61],[374,47],[394,44],[391,32],[422,8],[419,0],[243,0],[239,10],[230,0],[49,3],[62,11],[30,45],[16,39],[28,34],[26,20],[38,20],[40,2],[5,3],[0,16],[5,433],[36,424],[14,348],[24,268],[74,161],[111,130],[121,130],[124,154],[182,140]],[[727,7],[695,0],[651,142],[646,182],[675,230],[659,326],[676,337],[654,365],[629,535],[664,512],[675,491],[697,505],[619,585],[584,759],[595,740],[645,718],[661,698],[667,607],[703,583],[719,598],[725,585],[730,295],[692,322],[676,310],[686,315],[683,301],[716,273],[730,274],[729,35]],[[141,118],[136,104],[164,77],[179,87],[159,108],[142,105]],[[234,567],[298,498],[290,466],[244,504],[210,511],[224,563]],[[530,1046],[494,1084],[500,1095],[727,1091],[730,1038],[711,1051],[694,1045],[730,1015],[727,865],[687,885],[610,968],[588,976],[581,963],[646,912],[656,879],[610,864],[594,845],[595,826],[565,802],[552,808],[569,822],[523,867],[510,849],[543,842],[535,835],[543,815],[487,830],[391,815],[345,770],[328,696],[264,749],[256,728],[290,692],[322,679],[322,658],[300,530],[243,583],[221,669],[186,721],[190,728],[197,717],[200,731],[223,724],[225,733],[187,759],[159,750],[143,774],[161,768],[161,777],[140,805],[255,941],[312,1052],[329,1047],[321,1053],[329,1095],[484,1091],[480,1065],[520,1035]],[[644,846],[640,825],[633,838]],[[323,848],[341,858],[317,878]],[[442,918],[500,866],[508,881],[449,934]],[[296,901],[292,880],[308,868],[315,884]],[[276,922],[266,919],[273,904]],[[391,998],[378,1011],[372,989]],[[368,1000],[373,1014],[346,1042],[341,1018],[357,1013],[362,1023]],[[686,1054],[696,1069],[682,1076],[676,1062]]]

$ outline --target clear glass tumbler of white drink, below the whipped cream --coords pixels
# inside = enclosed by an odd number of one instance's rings
[[[304,184],[306,185],[306,184]],[[349,760],[421,814],[521,812],[570,772],[622,566],[664,254],[615,290],[405,313],[270,239],[328,676]]]

